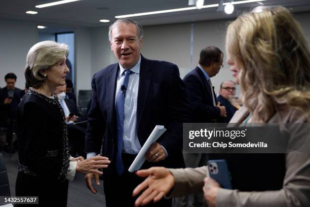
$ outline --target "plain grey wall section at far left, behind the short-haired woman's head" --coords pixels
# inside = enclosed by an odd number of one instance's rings
[[[16,87],[25,88],[24,68],[28,50],[37,42],[35,23],[0,19],[0,87],[8,73],[17,76]]]

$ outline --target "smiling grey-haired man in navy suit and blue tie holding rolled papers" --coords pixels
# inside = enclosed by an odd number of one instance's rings
[[[188,99],[175,64],[140,54],[143,29],[139,23],[118,19],[109,28],[109,40],[118,63],[93,77],[85,150],[87,157],[94,156],[102,146],[102,154],[111,160],[103,171],[106,206],[133,206],[132,191],[141,179],[128,168],[156,125],[164,125],[167,131],[150,146],[142,168],[184,166],[182,123],[188,120]],[[88,174],[86,182],[96,193],[93,177]],[[154,205],[170,206],[171,200]]]

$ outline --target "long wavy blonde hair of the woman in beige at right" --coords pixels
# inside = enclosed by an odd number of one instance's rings
[[[226,50],[243,67],[241,99],[255,122],[284,109],[310,120],[310,51],[299,23],[283,7],[250,12],[230,23]]]

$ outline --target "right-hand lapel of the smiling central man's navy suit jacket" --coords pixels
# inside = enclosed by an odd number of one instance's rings
[[[138,102],[137,103],[137,129],[139,129],[139,125],[141,122],[151,79],[152,79],[152,68],[148,64],[147,59],[145,59],[141,55],[138,101],[137,101]]]

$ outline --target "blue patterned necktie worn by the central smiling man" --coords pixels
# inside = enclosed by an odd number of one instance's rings
[[[117,126],[118,126],[118,150],[116,154],[116,167],[119,175],[124,172],[124,165],[122,161],[122,146],[123,146],[123,128],[124,128],[124,104],[125,95],[128,86],[128,79],[131,71],[125,70],[125,78],[123,84],[118,92],[116,101],[116,114],[117,114]]]

